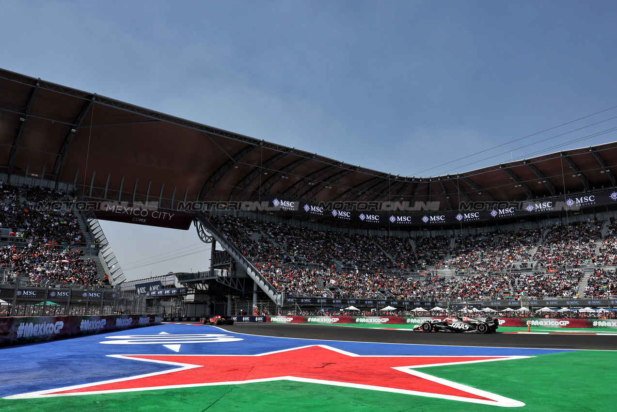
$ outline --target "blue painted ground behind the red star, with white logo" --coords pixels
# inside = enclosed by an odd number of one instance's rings
[[[184,337],[178,337],[178,335],[184,335]],[[205,341],[182,343],[184,340],[193,340],[192,337],[195,335],[201,335],[201,339]],[[118,336],[131,336],[130,339],[138,340],[140,340],[139,337],[143,337],[143,341],[148,343],[102,343],[127,340],[118,339]],[[174,344],[180,344],[180,347],[170,348],[159,343],[166,337],[170,337]],[[175,353],[180,355],[257,355],[306,345],[328,345],[358,355],[534,356],[571,352],[570,350],[534,348],[376,344],[291,339],[241,334],[225,331],[215,326],[162,324],[148,328],[2,348],[0,349],[0,364],[2,365],[0,397],[174,368],[170,365],[112,358],[107,355],[172,355]],[[178,352],[175,351],[176,349]]]

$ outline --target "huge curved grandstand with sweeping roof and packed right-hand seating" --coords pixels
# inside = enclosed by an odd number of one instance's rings
[[[48,205],[75,213],[110,286],[99,219],[193,224],[210,270],[177,281],[205,313],[617,306],[617,142],[400,176],[8,70],[0,89],[0,180],[64,193]]]

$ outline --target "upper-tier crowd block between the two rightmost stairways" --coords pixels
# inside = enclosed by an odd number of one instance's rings
[[[581,266],[594,261],[595,241],[600,239],[602,222],[576,221],[554,225],[537,247],[534,260],[542,266]],[[536,265],[537,266],[537,265]]]

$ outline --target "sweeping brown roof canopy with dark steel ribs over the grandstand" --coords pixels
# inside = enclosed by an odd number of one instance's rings
[[[257,200],[272,193],[329,202],[510,201],[615,186],[617,142],[455,175],[415,178],[190,122],[0,69],[0,173],[76,183],[131,202]],[[410,158],[419,155],[410,153]],[[92,187],[92,191],[91,188]]]

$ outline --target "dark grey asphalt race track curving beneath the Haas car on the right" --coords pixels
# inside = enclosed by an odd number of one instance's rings
[[[456,345],[474,347],[617,350],[617,336],[575,334],[463,334],[412,332],[408,329],[278,323],[236,323],[220,326],[230,332],[299,339],[383,342],[391,344]]]

